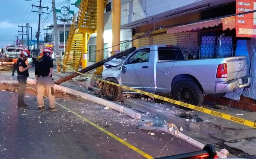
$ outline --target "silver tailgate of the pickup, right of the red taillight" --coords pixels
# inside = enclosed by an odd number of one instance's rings
[[[249,75],[249,62],[247,56],[226,58],[228,79],[238,79]]]

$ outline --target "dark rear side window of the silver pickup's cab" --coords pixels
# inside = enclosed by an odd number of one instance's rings
[[[158,60],[185,60],[182,51],[179,48],[158,48]]]

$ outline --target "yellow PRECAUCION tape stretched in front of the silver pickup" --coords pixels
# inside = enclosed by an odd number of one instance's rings
[[[61,65],[65,66],[65,67],[69,68],[68,66],[64,65],[61,62],[59,62],[59,63]],[[238,118],[238,117],[235,117],[235,116],[224,114],[224,113],[221,113],[221,112],[218,112],[218,111],[214,111],[214,110],[211,110],[211,109],[206,109],[206,108],[203,108],[203,107],[200,107],[200,106],[195,106],[195,105],[192,105],[192,104],[184,103],[184,102],[181,102],[181,101],[178,101],[178,100],[166,98],[166,97],[163,97],[163,96],[160,96],[160,95],[152,94],[152,93],[145,92],[145,91],[142,91],[142,90],[139,90],[139,89],[135,89],[135,88],[132,88],[132,87],[124,86],[124,85],[117,84],[117,83],[114,83],[114,82],[110,82],[110,81],[107,81],[107,80],[102,80],[102,79],[99,79],[99,78],[96,78],[96,77],[93,77],[93,76],[90,76],[90,75],[86,75],[86,74],[80,73],[80,72],[75,71],[75,70],[73,70],[73,71],[78,73],[78,74],[81,74],[81,75],[84,75],[84,76],[87,76],[87,77],[90,77],[90,78],[93,78],[93,79],[96,79],[96,80],[100,80],[100,81],[103,81],[103,82],[106,82],[106,83],[109,83],[109,84],[113,84],[113,85],[116,85],[116,86],[124,88],[124,89],[129,89],[129,90],[134,91],[134,92],[138,92],[138,93],[141,93],[141,94],[144,94],[144,95],[148,95],[148,96],[150,96],[152,98],[161,99],[161,100],[173,103],[173,104],[184,106],[184,107],[187,107],[187,108],[190,108],[190,109],[194,109],[194,110],[197,110],[197,111],[204,112],[206,114],[214,115],[214,116],[217,116],[217,117],[220,117],[220,118],[223,118],[223,119],[227,119],[227,120],[231,120],[231,121],[237,122],[239,124],[243,124],[243,125],[246,125],[246,126],[250,126],[250,127],[256,128],[256,123],[252,122],[252,121],[249,121],[249,120],[245,120],[245,119],[242,119],[242,118]]]

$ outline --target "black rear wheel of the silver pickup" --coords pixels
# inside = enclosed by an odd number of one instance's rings
[[[192,80],[177,82],[173,89],[173,96],[176,100],[193,105],[202,105],[204,101],[204,93]]]

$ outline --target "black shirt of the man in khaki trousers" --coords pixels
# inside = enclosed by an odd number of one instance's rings
[[[44,55],[36,62],[35,75],[46,77],[53,68],[53,60],[51,57]]]

